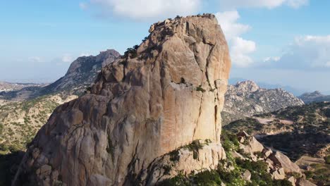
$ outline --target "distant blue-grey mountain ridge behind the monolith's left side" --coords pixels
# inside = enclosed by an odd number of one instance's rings
[[[2,92],[0,99],[24,101],[48,94],[81,95],[90,89],[103,66],[112,63],[120,54],[114,49],[100,52],[97,56],[82,56],[71,63],[66,75],[50,85],[24,87],[17,91]]]

